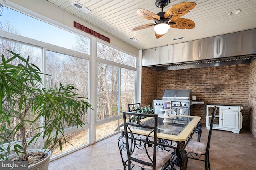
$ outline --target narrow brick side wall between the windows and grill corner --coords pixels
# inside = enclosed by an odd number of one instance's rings
[[[141,106],[152,106],[152,102],[156,99],[157,92],[157,72],[149,68],[142,67],[141,78]]]

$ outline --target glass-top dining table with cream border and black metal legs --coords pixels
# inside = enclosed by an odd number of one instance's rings
[[[164,149],[175,149],[173,156],[179,161],[179,169],[186,170],[188,157],[186,154],[186,144],[192,139],[192,135],[196,131],[196,128],[200,125],[201,117],[188,116],[188,115],[170,115],[165,117],[164,114],[158,115],[158,133],[157,138],[161,139],[158,145],[162,145]],[[141,120],[143,124],[154,125],[154,120],[150,117],[146,117]],[[148,135],[149,129],[141,129],[138,127],[130,127],[133,133],[138,135]],[[122,136],[118,140],[118,143],[124,137],[124,127],[120,127]],[[152,134],[153,135],[153,134]],[[171,143],[171,144],[170,144]],[[172,145],[174,143],[174,145]],[[121,150],[120,150],[121,153]]]

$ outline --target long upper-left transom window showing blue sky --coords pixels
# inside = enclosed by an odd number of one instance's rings
[[[10,8],[2,10],[0,29],[38,41],[90,54],[90,39],[37,20]]]

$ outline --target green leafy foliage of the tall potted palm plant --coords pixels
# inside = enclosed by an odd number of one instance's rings
[[[82,127],[82,116],[92,106],[72,85],[43,88],[43,74],[29,63],[29,57],[9,52],[13,57],[2,55],[0,64],[0,160],[8,160],[14,153],[21,161],[28,161],[28,147],[39,138],[44,141],[39,150],[48,155],[56,145],[62,150],[62,143],[68,142],[65,127]],[[19,64],[11,64],[14,60]],[[28,139],[27,130],[33,126],[37,133]]]

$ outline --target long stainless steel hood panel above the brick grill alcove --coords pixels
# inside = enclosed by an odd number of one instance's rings
[[[251,55],[255,51],[256,29],[251,29],[143,50],[142,66]]]

